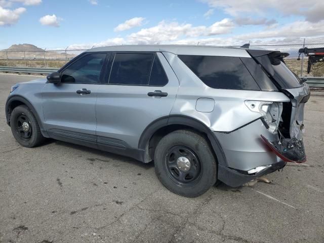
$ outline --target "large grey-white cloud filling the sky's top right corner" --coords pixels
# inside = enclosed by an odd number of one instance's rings
[[[200,0],[211,8],[223,9],[231,16],[278,13],[282,16],[302,15],[306,20],[316,22],[324,19],[324,3],[320,0]],[[315,14],[315,17],[313,16]],[[316,20],[316,21],[315,21]]]

